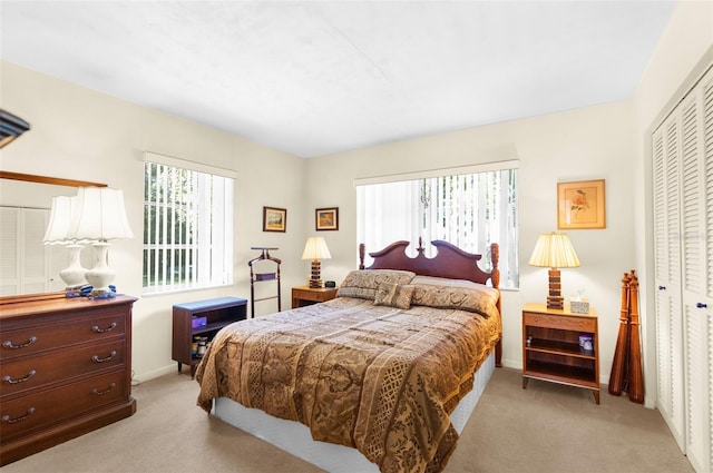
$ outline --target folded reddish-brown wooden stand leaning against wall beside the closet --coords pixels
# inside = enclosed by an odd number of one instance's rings
[[[619,334],[612,362],[609,394],[619,396],[625,392],[632,402],[643,404],[644,376],[638,326],[638,278],[632,269],[622,277]]]

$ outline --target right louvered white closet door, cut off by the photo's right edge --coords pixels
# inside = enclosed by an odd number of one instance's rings
[[[678,106],[682,125],[682,249],[686,455],[711,471],[713,427],[713,71]],[[706,307],[707,306],[707,307]]]

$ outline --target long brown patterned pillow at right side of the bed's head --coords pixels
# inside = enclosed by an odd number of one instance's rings
[[[412,305],[423,305],[434,308],[453,308],[473,312],[489,317],[496,308],[496,299],[491,290],[468,287],[449,287],[427,284],[413,285]],[[484,286],[485,289],[491,289]]]

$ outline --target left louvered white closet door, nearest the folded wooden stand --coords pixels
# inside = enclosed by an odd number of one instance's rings
[[[657,407],[685,449],[681,321],[680,120],[671,115],[653,136]]]

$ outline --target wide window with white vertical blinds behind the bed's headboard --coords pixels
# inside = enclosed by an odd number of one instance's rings
[[[358,240],[368,252],[404,239],[416,256],[422,237],[426,256],[432,257],[434,248],[426,242],[442,239],[482,254],[482,267],[490,268],[489,247],[497,243],[500,287],[518,287],[517,169],[358,183],[356,196]]]

